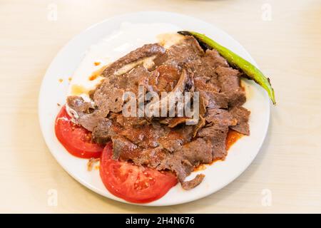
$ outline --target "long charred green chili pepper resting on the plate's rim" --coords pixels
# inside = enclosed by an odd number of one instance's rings
[[[238,56],[233,51],[228,50],[228,48],[225,48],[220,44],[216,43],[204,34],[197,33],[195,31],[178,31],[178,33],[184,36],[194,36],[198,40],[200,45],[204,46],[205,48],[214,48],[216,51],[218,51],[218,53],[220,53],[221,56],[226,58],[226,60],[228,61],[228,63],[230,63],[231,66],[239,68],[241,71],[243,71],[243,73],[245,73],[247,78],[252,79],[260,86],[262,86],[267,91],[267,94],[271,98],[272,103],[275,104],[275,95],[270,83],[270,79],[266,78],[258,68],[253,66],[253,64],[246,61],[244,58]]]

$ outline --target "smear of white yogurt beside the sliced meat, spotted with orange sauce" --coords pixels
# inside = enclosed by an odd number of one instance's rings
[[[73,73],[68,95],[81,95],[90,100],[88,91],[96,88],[103,77],[92,79],[93,72],[99,71],[118,58],[146,43],[160,43],[165,48],[178,42],[183,36],[176,33],[181,29],[172,24],[131,24],[123,23],[117,31],[88,48],[83,61]],[[98,73],[99,75],[99,73]],[[91,80],[90,80],[91,78]]]

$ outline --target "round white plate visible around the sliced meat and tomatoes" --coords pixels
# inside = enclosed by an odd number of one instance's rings
[[[235,41],[227,33],[212,24],[190,16],[158,11],[126,14],[102,21],[83,31],[59,51],[46,72],[39,94],[39,121],[46,144],[58,163],[78,182],[98,194],[121,202],[125,201],[111,195],[103,186],[98,170],[88,172],[86,170],[87,160],[73,157],[58,142],[54,134],[54,121],[60,109],[57,103],[65,103],[68,78],[81,62],[88,47],[93,43],[97,43],[111,31],[116,31],[126,21],[130,21],[133,24],[168,23],[183,30],[205,33],[256,65],[253,58],[238,41]],[[142,33],[141,36],[144,36],[144,34]],[[60,78],[63,79],[62,83],[58,82]],[[195,189],[185,191],[180,185],[177,185],[161,199],[145,205],[181,204],[208,196],[235,180],[250,165],[258,154],[267,133],[270,118],[270,100],[265,90],[253,83],[253,81],[244,80],[243,82],[245,83],[248,97],[244,106],[251,111],[249,122],[251,135],[238,140],[228,151],[225,161],[215,162],[205,170],[198,171],[205,174],[205,179]],[[194,172],[190,175],[190,178],[194,177],[198,172]]]

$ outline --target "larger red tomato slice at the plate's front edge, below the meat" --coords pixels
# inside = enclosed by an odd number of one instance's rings
[[[172,172],[113,160],[112,154],[113,147],[109,142],[101,155],[100,175],[107,190],[116,197],[135,203],[152,202],[177,184]]]

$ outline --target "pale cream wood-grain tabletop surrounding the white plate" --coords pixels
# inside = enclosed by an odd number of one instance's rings
[[[83,187],[51,155],[38,121],[41,80],[69,39],[108,17],[151,10],[223,28],[270,76],[277,97],[248,170],[209,197],[171,207],[123,204]],[[1,0],[0,27],[0,212],[321,212],[320,0]]]

